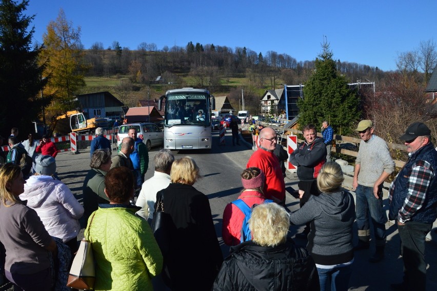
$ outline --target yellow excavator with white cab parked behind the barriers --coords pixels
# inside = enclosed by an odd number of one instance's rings
[[[70,132],[93,134],[97,127],[108,127],[108,121],[105,118],[87,120],[83,112],[75,109],[53,118],[48,133],[50,135],[53,133],[65,135]]]

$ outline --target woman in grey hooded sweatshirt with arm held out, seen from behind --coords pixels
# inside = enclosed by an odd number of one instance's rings
[[[347,290],[352,273],[352,224],[355,203],[351,193],[342,190],[344,180],[339,164],[328,162],[317,176],[322,192],[311,196],[305,205],[294,212],[293,224],[311,223],[308,251],[319,273],[321,290]]]

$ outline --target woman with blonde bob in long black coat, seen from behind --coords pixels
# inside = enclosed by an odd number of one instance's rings
[[[162,200],[170,216],[163,279],[172,290],[210,290],[223,262],[208,197],[193,187],[199,177],[192,158],[175,160],[170,185],[156,194],[155,211]]]

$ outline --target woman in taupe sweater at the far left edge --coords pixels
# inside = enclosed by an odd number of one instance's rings
[[[26,181],[18,165],[0,167],[0,241],[6,249],[5,275],[15,290],[51,290],[50,252],[57,246],[35,210],[19,195]]]

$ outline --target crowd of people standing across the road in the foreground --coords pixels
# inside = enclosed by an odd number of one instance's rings
[[[0,166],[0,277],[16,290],[55,288],[62,280],[56,270],[64,245],[68,267],[83,219],[96,264],[95,290],[347,290],[354,251],[370,246],[370,221],[375,253],[369,261],[384,259],[382,184],[394,162],[373,123],[361,121],[354,200],[342,188],[341,166],[328,156],[333,130],[326,121],[322,128],[326,134],[317,137],[314,125],[304,126],[305,140],[290,154],[299,178],[300,209],[293,213],[286,207],[284,174],[274,154],[276,132],[259,131],[259,149],[241,173],[243,190],[223,212],[227,258],[208,197],[194,187],[201,174],[191,157],[175,160],[171,151],[158,151],[153,177],[144,181],[148,157],[135,129],[114,157],[106,141],[95,139],[82,206],[56,179],[57,150],[50,140],[38,143],[29,134],[18,143],[14,128],[11,150]],[[425,236],[437,218],[437,151],[423,123],[411,124],[400,138],[409,160],[390,186],[389,218],[401,238],[404,281],[391,287],[425,290]],[[355,220],[359,240],[354,246]],[[165,234],[159,238],[152,230],[158,224]],[[291,224],[305,225],[295,239],[306,240],[306,247],[290,238]]]

